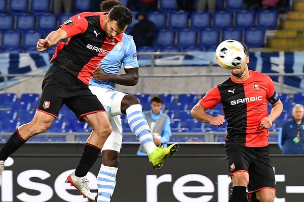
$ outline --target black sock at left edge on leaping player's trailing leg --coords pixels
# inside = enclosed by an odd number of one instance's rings
[[[0,161],[5,161],[7,158],[13,154],[22,144],[24,144],[26,140],[24,140],[18,132],[18,129],[12,134],[10,139],[4,145],[4,147],[0,151]]]

